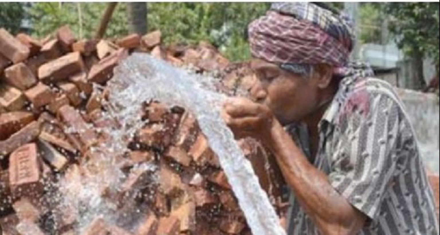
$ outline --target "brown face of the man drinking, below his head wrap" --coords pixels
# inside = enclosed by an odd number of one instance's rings
[[[282,125],[302,121],[319,105],[318,79],[282,70],[279,66],[253,59],[257,82],[251,96],[267,105]]]

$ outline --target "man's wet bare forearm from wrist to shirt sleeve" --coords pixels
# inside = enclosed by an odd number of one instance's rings
[[[268,147],[274,153],[286,183],[324,234],[351,234],[362,226],[355,218],[359,212],[334,190],[322,171],[308,162],[281,125],[273,128],[270,139]]]

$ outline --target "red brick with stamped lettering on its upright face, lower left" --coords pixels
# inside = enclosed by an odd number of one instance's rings
[[[9,183],[12,195],[35,198],[43,192],[41,162],[37,145],[28,143],[12,152],[9,157]]]

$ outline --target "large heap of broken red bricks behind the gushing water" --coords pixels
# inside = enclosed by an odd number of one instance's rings
[[[103,127],[119,125],[104,120],[106,83],[117,64],[134,51],[150,53],[176,66],[192,66],[198,73],[220,69],[222,89],[247,90],[252,76],[246,63],[230,64],[213,46],[161,46],[161,33],[132,34],[120,40],[77,40],[68,26],[44,40],[26,34],[12,36],[0,29],[0,226],[7,235],[19,234],[17,224],[28,224],[33,234],[80,234],[77,218],[55,211],[51,201],[60,179],[87,172],[91,151],[106,141]],[[93,84],[104,87],[100,92]],[[194,116],[179,107],[146,103],[143,118],[149,122],[132,140],[131,151],[117,156],[129,164],[117,195],[133,196],[133,189],[149,184],[150,172],[132,170],[143,162],[158,166],[157,181],[136,196],[147,205],[136,227],[110,224],[96,217],[82,235],[222,235],[250,234],[237,199],[218,158],[209,148]],[[268,151],[253,140],[242,140],[242,149],[282,215],[282,177],[279,169],[265,168]],[[272,162],[273,163],[273,162]],[[148,181],[148,182],[147,182]],[[74,191],[74,190],[73,190]],[[133,209],[134,210],[134,209]],[[30,228],[29,227],[29,228]],[[27,227],[26,227],[27,228]],[[54,232],[56,230],[56,232]]]

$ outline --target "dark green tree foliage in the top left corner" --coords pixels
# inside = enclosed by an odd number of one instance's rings
[[[0,2],[0,28],[16,34],[20,30],[23,18],[22,3]]]

